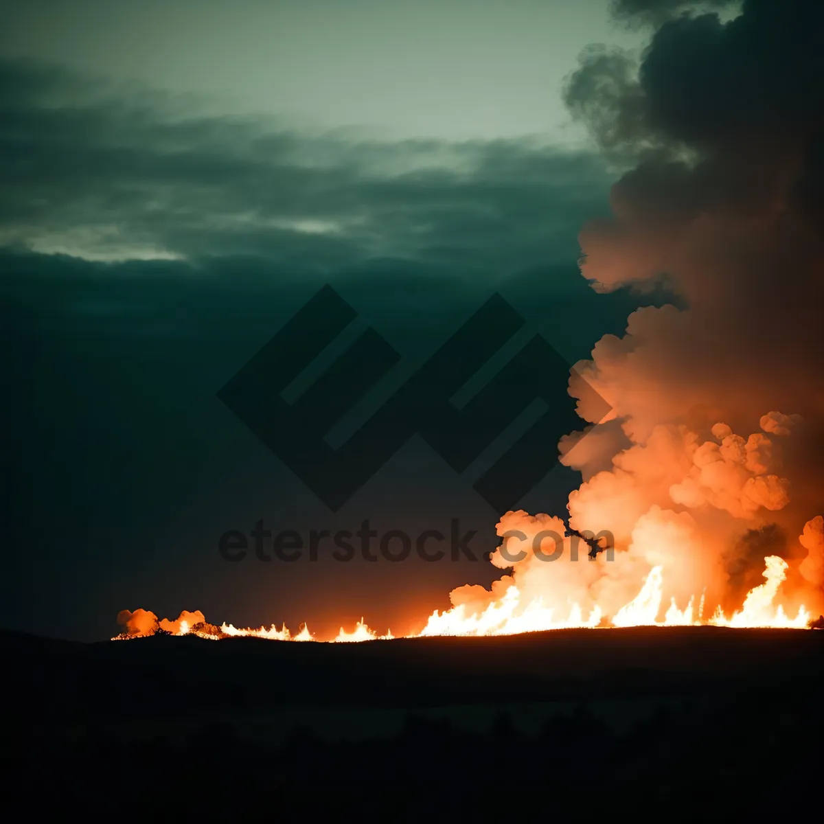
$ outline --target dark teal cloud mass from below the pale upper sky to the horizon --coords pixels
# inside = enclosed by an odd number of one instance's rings
[[[0,582],[0,624],[100,639],[124,606],[171,612],[184,597],[238,624],[310,618],[325,632],[324,620],[348,614],[347,598],[356,610],[368,601],[377,610],[368,620],[393,628],[409,609],[398,592],[413,587],[416,605],[442,606],[479,564],[227,569],[218,537],[260,517],[302,531],[369,517],[411,533],[461,514],[484,549],[496,541],[494,513],[420,442],[332,522],[216,393],[327,279],[402,368],[496,289],[571,363],[637,305],[629,293],[595,296],[575,265],[579,223],[606,212],[608,180],[590,155],[527,140],[297,133],[205,118],[189,101],[58,68],[2,64],[0,338],[14,399],[4,429],[15,569]],[[172,259],[140,259],[157,252]],[[534,490],[542,505],[563,507],[574,485],[556,470]]]

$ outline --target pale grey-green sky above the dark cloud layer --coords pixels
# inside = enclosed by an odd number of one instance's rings
[[[214,112],[393,138],[584,138],[561,102],[606,0],[27,0],[0,54],[194,94]]]

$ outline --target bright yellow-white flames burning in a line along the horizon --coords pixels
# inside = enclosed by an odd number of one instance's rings
[[[661,606],[663,599],[663,570],[661,566],[653,567],[644,578],[638,594],[611,616],[610,620],[605,619],[604,612],[600,606],[594,606],[584,617],[582,607],[573,602],[569,605],[569,611],[565,617],[557,617],[555,610],[545,606],[541,597],[533,598],[531,601],[522,602],[522,593],[516,586],[510,586],[503,597],[498,601],[489,604],[483,611],[468,614],[466,604],[453,606],[451,610],[439,612],[435,610],[429,616],[424,629],[419,633],[410,634],[408,638],[425,638],[435,635],[515,635],[525,632],[541,632],[544,630],[567,630],[567,629],[595,629],[596,627],[630,627],[630,626],[726,626],[739,629],[766,627],[773,629],[804,629],[808,626],[811,613],[804,607],[799,606],[794,618],[790,618],[784,611],[784,607],[775,605],[775,597],[778,595],[780,586],[786,578],[788,569],[787,562],[777,555],[770,555],[765,558],[764,578],[765,583],[752,588],[744,599],[742,608],[727,618],[720,606],[714,615],[708,620],[702,620],[704,611],[704,593],[701,594],[697,615],[694,615],[695,596],[692,596],[683,609],[677,605],[675,597],[672,597],[667,611],[663,618]],[[152,634],[146,629],[146,611],[135,611],[129,613],[135,617],[136,627],[134,631],[127,631],[115,636],[112,640],[137,638]],[[275,625],[269,628],[259,627],[256,630],[246,628],[238,629],[231,624],[222,624],[219,628],[207,625],[205,621],[196,625],[190,625],[183,615],[192,613],[182,613],[176,621],[162,620],[157,623],[162,629],[164,626],[173,626],[174,635],[195,634],[200,638],[218,640],[222,638],[232,638],[247,636],[253,638],[263,638],[274,641],[315,641],[306,624],[302,625],[300,631],[293,635],[284,624],[280,629]],[[123,616],[123,613],[121,613]],[[166,630],[169,631],[169,630]],[[361,618],[352,632],[347,632],[343,627],[332,639],[333,643],[358,643],[360,641],[390,640],[395,638],[391,630],[385,635],[378,635]]]

